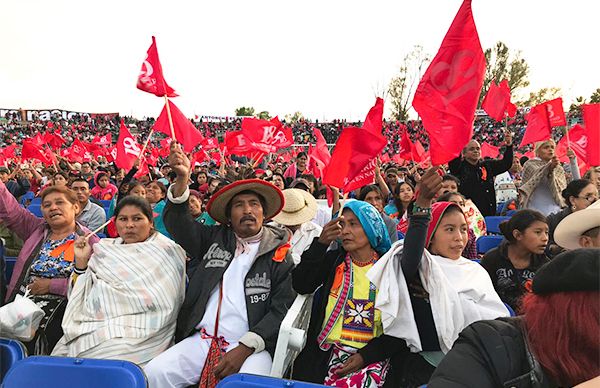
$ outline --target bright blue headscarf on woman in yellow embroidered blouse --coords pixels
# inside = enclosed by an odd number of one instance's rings
[[[388,234],[383,218],[373,205],[364,201],[348,201],[344,209],[352,210],[363,227],[371,247],[380,256],[383,256],[392,247],[392,241]]]

